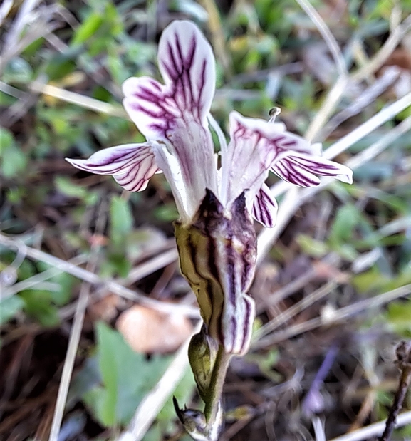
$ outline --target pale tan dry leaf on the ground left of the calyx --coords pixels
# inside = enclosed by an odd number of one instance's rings
[[[140,305],[121,313],[117,328],[132,349],[140,353],[176,351],[192,333],[192,323],[187,317]]]

